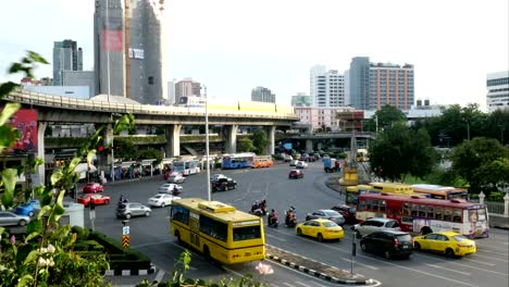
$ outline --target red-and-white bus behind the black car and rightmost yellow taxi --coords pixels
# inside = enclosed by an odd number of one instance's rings
[[[486,207],[461,199],[364,194],[359,196],[356,217],[394,219],[406,232],[455,230],[469,238],[488,237],[489,229]]]

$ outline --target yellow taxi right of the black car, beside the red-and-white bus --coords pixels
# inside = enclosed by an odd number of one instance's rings
[[[430,250],[447,257],[463,257],[477,251],[475,242],[455,232],[437,232],[413,238],[413,249]]]

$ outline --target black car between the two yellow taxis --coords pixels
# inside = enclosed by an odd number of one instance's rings
[[[413,252],[412,236],[405,232],[374,232],[362,237],[360,246],[364,252],[382,253],[386,259],[394,255],[409,258]]]

